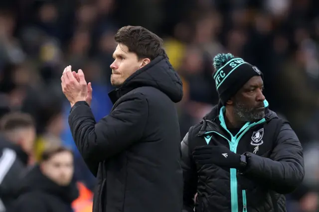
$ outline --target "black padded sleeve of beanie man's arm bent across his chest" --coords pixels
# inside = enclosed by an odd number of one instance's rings
[[[283,123],[270,158],[252,153],[247,156],[244,175],[264,182],[268,188],[279,193],[293,192],[303,181],[304,156],[299,139],[290,125]]]

